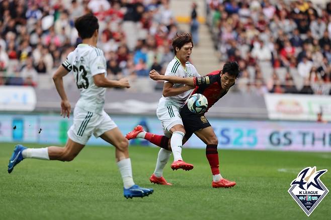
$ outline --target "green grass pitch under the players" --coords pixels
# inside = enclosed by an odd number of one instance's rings
[[[174,185],[161,186],[148,180],[158,148],[130,146],[135,182],[154,193],[126,199],[113,147],[88,146],[71,162],[26,159],[8,174],[14,145],[0,146],[0,219],[308,219],[287,192],[298,172],[328,169],[331,190],[331,153],[219,150],[221,174],[237,185],[214,189],[203,149],[184,148],[194,169],[167,164]],[[309,218],[331,219],[331,192]]]

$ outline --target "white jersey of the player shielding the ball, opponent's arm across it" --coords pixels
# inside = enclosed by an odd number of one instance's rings
[[[175,57],[167,67],[167,70],[165,70],[164,75],[170,75],[170,76],[179,76],[179,77],[196,77],[200,76],[200,74],[197,72],[196,68],[190,63],[186,62],[186,68],[184,68],[179,61],[177,57]],[[167,81],[165,81],[167,82]],[[164,83],[165,83],[164,82]],[[173,85],[174,88],[179,88],[183,87],[185,84],[178,84],[175,83]],[[159,105],[164,105],[164,106],[170,106],[170,105],[175,105],[177,107],[183,107],[185,104],[186,99],[189,97],[191,94],[192,89],[185,91],[181,94],[171,96],[171,97],[162,97],[159,99]]]

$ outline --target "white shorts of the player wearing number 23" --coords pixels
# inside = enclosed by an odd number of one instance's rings
[[[86,145],[92,134],[98,138],[116,127],[115,122],[105,111],[98,114],[75,107],[73,110],[73,124],[67,135],[72,141]]]

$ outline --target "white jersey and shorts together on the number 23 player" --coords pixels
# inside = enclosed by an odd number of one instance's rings
[[[86,144],[92,134],[99,137],[104,132],[116,128],[116,124],[103,110],[106,88],[97,86],[93,79],[97,74],[107,76],[103,51],[89,44],[79,44],[68,54],[62,66],[72,72],[80,90],[68,137],[77,143]]]

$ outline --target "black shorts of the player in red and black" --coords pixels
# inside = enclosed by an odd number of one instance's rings
[[[185,104],[184,107],[181,109],[180,114],[186,131],[186,138],[191,137],[192,134],[196,131],[211,126],[204,115],[192,113],[189,110],[187,104]]]

